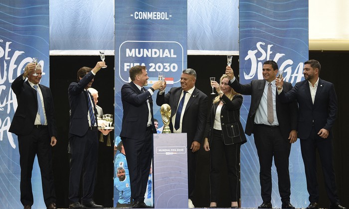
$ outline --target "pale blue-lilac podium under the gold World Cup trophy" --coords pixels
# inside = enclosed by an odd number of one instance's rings
[[[188,208],[186,133],[154,134],[154,207]]]

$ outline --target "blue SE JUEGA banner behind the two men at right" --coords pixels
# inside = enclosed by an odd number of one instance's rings
[[[240,83],[263,79],[263,62],[274,60],[293,85],[304,79],[303,63],[308,60],[308,1],[240,0]],[[244,96],[241,107],[243,126],[251,103]],[[252,136],[241,147],[241,202],[244,208],[262,204],[258,155]],[[296,208],[308,205],[308,193],[299,140],[290,155],[291,203]],[[276,168],[272,167],[272,204],[281,208]]]

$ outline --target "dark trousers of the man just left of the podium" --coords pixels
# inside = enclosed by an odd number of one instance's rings
[[[150,166],[153,158],[153,132],[147,128],[140,139],[122,138],[129,168],[131,198],[144,202]]]

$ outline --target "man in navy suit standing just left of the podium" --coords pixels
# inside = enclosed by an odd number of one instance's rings
[[[130,69],[131,82],[121,88],[124,115],[120,137],[124,145],[131,182],[132,208],[147,208],[144,195],[147,189],[150,166],[153,157],[154,126],[152,95],[162,82],[148,90],[148,73],[145,66],[136,65]]]

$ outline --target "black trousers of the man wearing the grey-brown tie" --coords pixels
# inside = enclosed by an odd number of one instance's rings
[[[278,186],[281,202],[290,201],[291,183],[289,156],[291,143],[283,138],[279,127],[265,127],[255,124],[254,143],[257,148],[260,165],[260,184],[263,202],[271,202],[272,178],[271,166],[274,162],[278,173]]]

